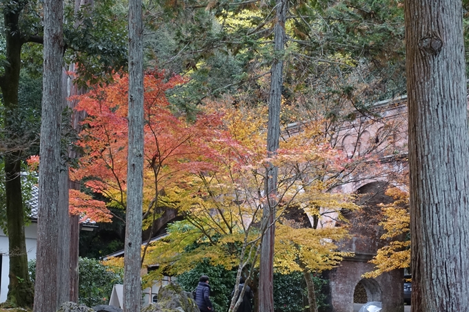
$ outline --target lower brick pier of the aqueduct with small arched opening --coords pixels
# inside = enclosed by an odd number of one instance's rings
[[[366,289],[368,301],[382,302],[382,312],[403,311],[403,271],[395,270],[383,273],[375,279],[364,279],[363,274],[373,271],[374,264],[369,263],[377,249],[383,245],[379,238],[382,229],[379,220],[373,214],[379,214],[379,203],[392,202],[384,194],[389,187],[386,181],[369,181],[355,189],[355,194],[363,197],[363,209],[350,211],[351,238],[341,242],[339,249],[355,253],[344,258],[341,265],[329,271],[329,298],[331,312],[352,312],[353,294],[359,282]]]

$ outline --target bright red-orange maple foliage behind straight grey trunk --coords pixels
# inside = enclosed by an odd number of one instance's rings
[[[189,160],[199,151],[194,138],[200,135],[201,123],[188,124],[170,111],[166,90],[183,83],[179,76],[163,81],[163,73],[145,75],[145,171],[144,202],[146,210],[160,205],[159,199],[179,180],[182,172],[197,165]],[[110,207],[126,208],[128,154],[128,79],[115,77],[115,83],[95,86],[79,96],[77,110],[88,117],[82,122],[79,147],[83,150],[79,169],[71,176],[82,180],[90,191],[106,197]],[[160,196],[159,196],[160,195]]]

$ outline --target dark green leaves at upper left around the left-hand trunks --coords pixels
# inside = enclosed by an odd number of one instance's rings
[[[41,1],[1,1],[0,10],[21,12],[18,26],[26,40],[32,36],[42,36]],[[66,1],[64,12],[65,59],[67,64],[77,64],[77,82],[80,85],[110,81],[113,73],[126,70],[127,18],[123,6],[110,0],[94,1],[92,10],[84,6],[75,14],[74,1]],[[3,20],[1,22],[3,24]],[[42,45],[23,45],[21,67],[28,74],[41,76],[42,61]],[[5,73],[6,65],[5,34],[1,31],[0,75]]]

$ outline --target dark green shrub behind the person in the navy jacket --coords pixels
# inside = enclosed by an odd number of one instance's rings
[[[228,271],[221,265],[212,266],[208,260],[204,260],[194,269],[178,275],[177,282],[185,291],[192,291],[199,284],[201,275],[207,275],[210,278],[210,300],[214,311],[228,311],[236,272]]]

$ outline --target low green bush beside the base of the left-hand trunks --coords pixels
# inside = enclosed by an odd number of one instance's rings
[[[123,271],[113,272],[99,260],[79,259],[79,304],[96,306],[108,304],[114,284],[122,284]],[[28,262],[32,282],[36,276],[36,260]]]

